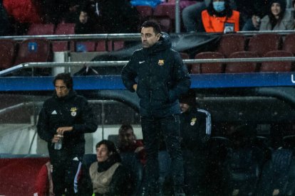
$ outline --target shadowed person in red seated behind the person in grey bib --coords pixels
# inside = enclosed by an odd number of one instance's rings
[[[143,141],[137,140],[130,124],[123,124],[119,129],[119,151],[120,153],[136,153],[140,163],[145,165],[145,151]]]

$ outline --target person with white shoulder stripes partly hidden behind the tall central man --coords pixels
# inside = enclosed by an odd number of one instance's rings
[[[180,97],[180,109],[180,136],[187,185],[185,191],[187,195],[203,195],[211,115],[209,111],[197,108],[195,92],[192,91]]]

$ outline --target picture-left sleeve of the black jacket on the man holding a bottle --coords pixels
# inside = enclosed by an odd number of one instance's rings
[[[46,114],[46,104],[43,104],[43,107],[40,111],[39,117],[38,117],[38,123],[37,123],[37,132],[41,139],[51,142],[51,139],[53,136],[48,130],[48,124],[49,124],[49,118]]]

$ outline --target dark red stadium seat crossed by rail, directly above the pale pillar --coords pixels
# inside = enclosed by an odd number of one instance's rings
[[[75,23],[59,23],[56,26],[56,35],[70,35],[75,34]],[[70,50],[71,52],[75,51],[74,42],[68,41],[54,41],[53,51],[60,52],[60,51],[67,51]]]

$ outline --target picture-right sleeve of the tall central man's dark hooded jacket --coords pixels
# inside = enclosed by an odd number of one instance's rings
[[[182,62],[180,53],[175,52],[175,64],[172,67],[172,88],[169,90],[169,101],[174,102],[190,89],[190,75],[187,66]]]

